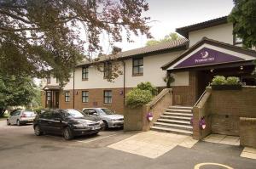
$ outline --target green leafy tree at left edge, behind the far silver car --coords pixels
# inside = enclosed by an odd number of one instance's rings
[[[0,116],[9,106],[28,105],[36,96],[31,77],[0,74]]]

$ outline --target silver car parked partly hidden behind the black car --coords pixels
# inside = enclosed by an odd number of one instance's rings
[[[104,128],[124,127],[124,115],[117,115],[107,108],[84,108],[85,115],[98,116],[104,122]]]

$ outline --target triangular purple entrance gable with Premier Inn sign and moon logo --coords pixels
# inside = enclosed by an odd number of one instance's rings
[[[177,59],[163,65],[162,69],[177,72],[247,67],[253,71],[255,59],[256,51],[203,37]]]

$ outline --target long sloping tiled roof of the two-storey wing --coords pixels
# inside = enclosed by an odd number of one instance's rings
[[[94,61],[95,62],[102,62],[108,59],[126,59],[126,58],[130,58],[130,57],[134,57],[137,55],[142,55],[142,54],[154,54],[157,52],[161,52],[161,51],[166,51],[166,50],[174,50],[174,49],[179,49],[179,48],[187,48],[189,45],[189,40],[186,38],[181,38],[177,41],[173,41],[173,42],[161,42],[159,44],[156,45],[152,45],[152,46],[146,46],[143,48],[135,48],[135,49],[131,49],[131,50],[127,50],[125,52],[121,52],[119,54],[110,54],[110,55],[103,55],[102,57],[100,57],[100,59]],[[90,61],[86,60],[82,63],[79,63],[77,66],[80,65],[90,65]]]

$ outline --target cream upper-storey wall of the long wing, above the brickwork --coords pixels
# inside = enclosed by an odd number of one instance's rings
[[[152,55],[143,58],[143,76],[132,76],[132,59],[125,60],[125,87],[137,87],[140,82],[151,82],[154,87],[165,87],[166,82],[163,78],[166,76],[166,70],[162,70],[161,66],[166,65],[172,59],[176,59],[182,52],[174,52],[168,54]],[[119,62],[119,70],[124,72],[123,65]],[[189,72],[176,73],[174,75],[175,82],[173,86],[188,86]],[[75,89],[92,89],[92,88],[117,88],[124,87],[124,76],[120,75],[108,82],[103,78],[103,72],[96,69],[95,66],[89,67],[88,81],[82,81],[82,68],[79,67],[75,71]],[[44,85],[46,81],[44,80]],[[43,87],[44,87],[43,85]],[[58,85],[55,78],[51,77],[49,85]],[[73,89],[73,73],[70,81],[64,87],[64,90]]]

